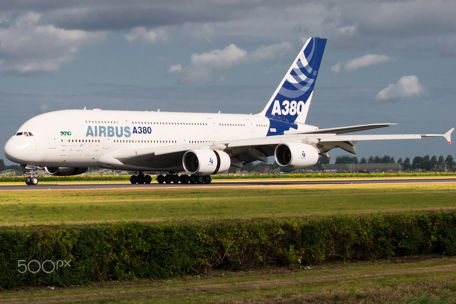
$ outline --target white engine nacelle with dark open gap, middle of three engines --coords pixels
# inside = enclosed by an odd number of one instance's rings
[[[182,165],[190,174],[212,175],[228,170],[231,160],[223,151],[193,149],[184,154]]]

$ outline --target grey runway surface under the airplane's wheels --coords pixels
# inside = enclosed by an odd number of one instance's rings
[[[347,180],[267,180],[267,181],[234,181],[212,182],[211,184],[159,184],[155,180],[150,184],[39,184],[38,185],[0,185],[1,190],[84,190],[84,189],[144,189],[167,187],[235,187],[235,186],[269,186],[269,185],[347,185],[347,184],[396,184],[396,183],[454,183],[456,178],[399,178],[399,179],[347,179]]]

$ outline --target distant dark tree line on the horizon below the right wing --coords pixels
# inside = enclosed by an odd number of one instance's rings
[[[342,156],[337,156],[336,157],[336,162],[335,164],[350,164],[350,163],[355,163],[355,164],[401,164],[404,170],[416,170],[416,169],[421,169],[421,170],[426,170],[430,171],[435,168],[440,168],[442,166],[440,165],[447,165],[447,168],[450,169],[450,167],[453,167],[456,165],[456,163],[453,160],[453,156],[447,155],[446,158],[443,157],[443,155],[440,155],[439,157],[433,155],[432,157],[429,155],[425,156],[415,156],[413,160],[410,162],[410,158],[406,157],[404,160],[402,158],[399,158],[399,160],[394,161],[394,157],[391,157],[389,155],[383,155],[383,157],[380,156],[369,156],[368,159],[363,157],[361,160],[358,161],[358,157],[356,156],[348,156],[348,155],[342,155]],[[329,161],[328,161],[329,164]]]

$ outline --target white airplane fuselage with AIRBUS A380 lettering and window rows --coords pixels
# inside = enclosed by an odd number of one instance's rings
[[[317,128],[300,124],[299,129]],[[123,149],[227,143],[266,137],[268,130],[269,119],[260,115],[63,110],[29,119],[17,130],[22,134],[6,143],[5,156],[37,167],[104,167],[98,162],[101,156]],[[106,168],[164,171],[131,165]]]

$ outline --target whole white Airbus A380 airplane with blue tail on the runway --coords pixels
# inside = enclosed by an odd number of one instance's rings
[[[255,115],[158,111],[62,110],[26,121],[5,144],[5,156],[30,170],[78,175],[88,167],[138,172],[132,184],[210,183],[211,175],[242,168],[269,156],[282,167],[301,169],[340,148],[356,155],[356,141],[444,137],[445,134],[347,135],[394,124],[363,124],[319,129],[306,124],[326,39],[306,41],[263,111]],[[339,135],[343,134],[343,135]],[[186,174],[179,175],[179,172]]]

